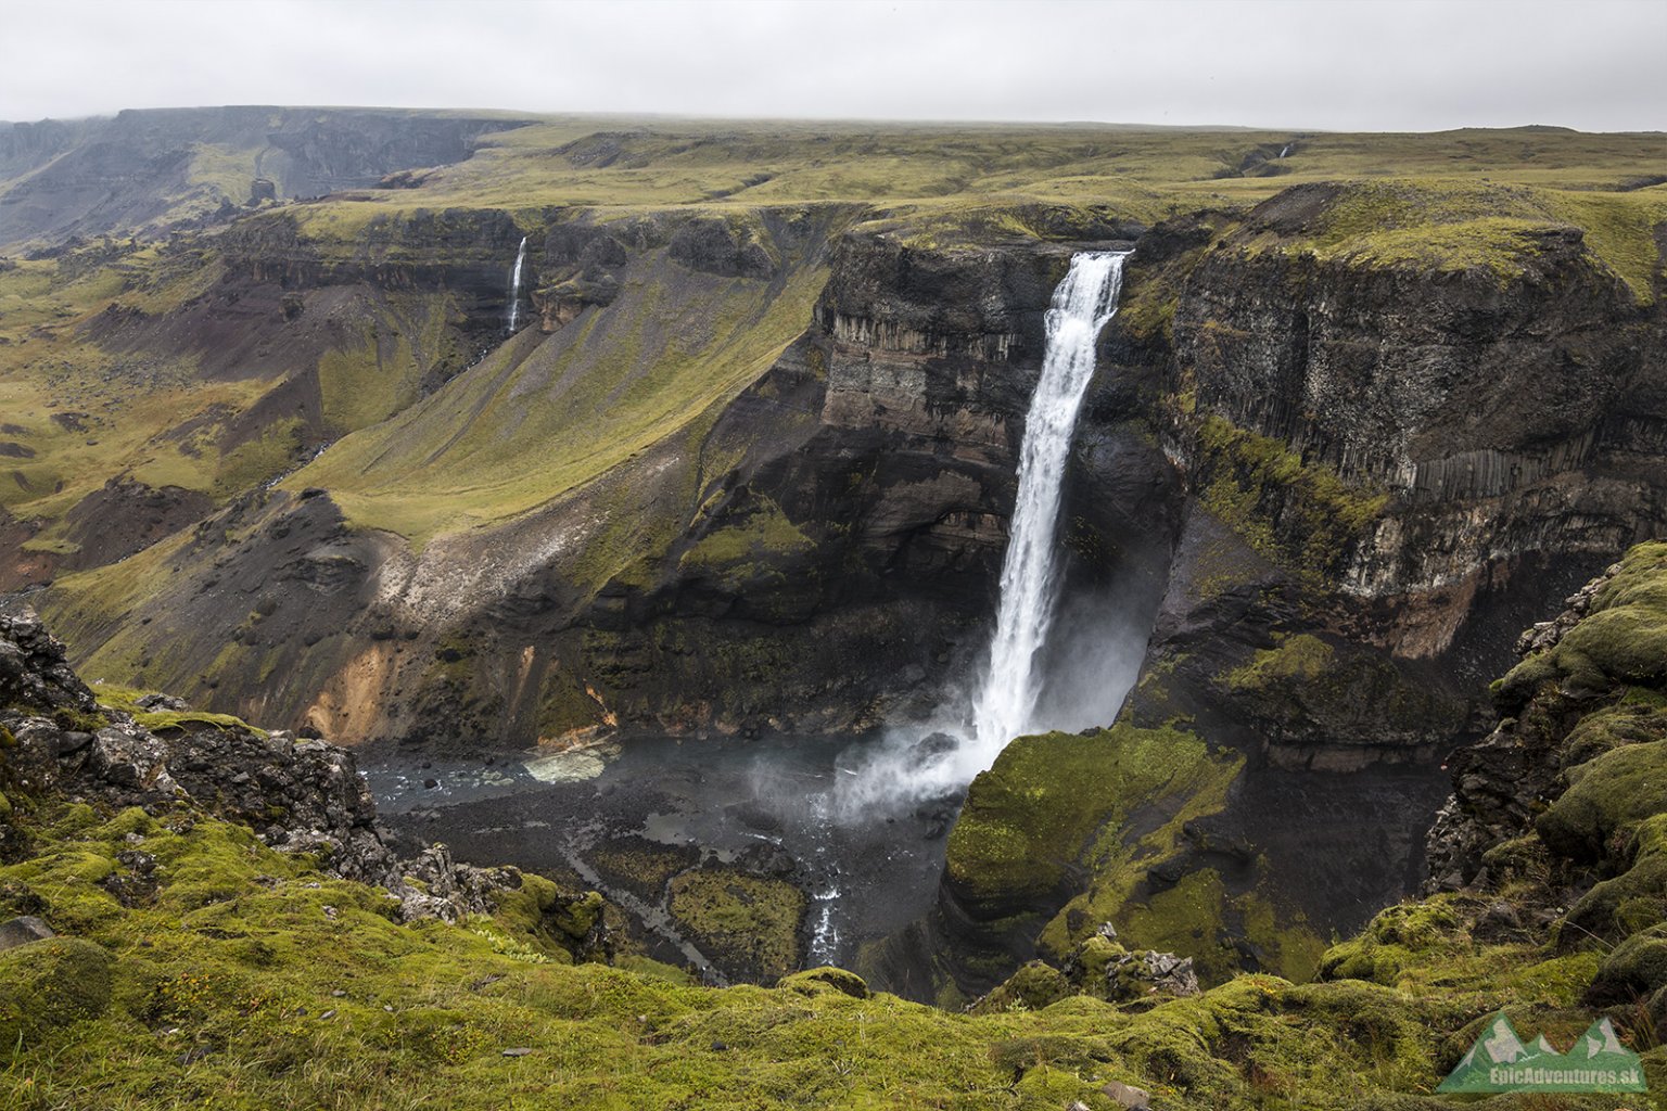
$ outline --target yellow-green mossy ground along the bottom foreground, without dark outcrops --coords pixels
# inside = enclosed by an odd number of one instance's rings
[[[495,918],[407,926],[382,891],[240,826],[55,805],[23,828],[0,911],[65,936],[0,954],[15,1108],[1110,1108],[1109,1079],[1155,1108],[1420,1106],[1502,1006],[1572,1039],[1599,963],[1482,944],[1480,901],[1444,896],[1329,958],[1359,979],[970,1016],[849,974],[707,989],[642,959],[572,964],[535,929],[537,879]],[[157,888],[122,888],[123,906],[105,881],[132,851],[155,858]],[[1645,1061],[1667,1084],[1664,1051]]]

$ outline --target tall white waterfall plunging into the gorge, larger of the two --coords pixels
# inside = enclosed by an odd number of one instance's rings
[[[1094,376],[1094,345],[1117,315],[1127,257],[1127,252],[1075,255],[1047,311],[1047,353],[1025,418],[990,670],[974,703],[972,740],[985,768],[1007,741],[1037,725],[1035,665],[1054,621],[1060,486],[1077,411]]]

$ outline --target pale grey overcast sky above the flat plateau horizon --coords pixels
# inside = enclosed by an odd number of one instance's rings
[[[0,118],[282,103],[1667,130],[1667,0],[0,0]]]

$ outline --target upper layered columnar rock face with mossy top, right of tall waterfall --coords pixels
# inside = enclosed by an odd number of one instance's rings
[[[1304,248],[1329,203],[1290,190],[1192,247],[1165,228],[1144,260],[1149,290],[1179,288],[1167,335],[1155,360],[1140,343],[1112,358],[1164,368],[1164,435],[1195,493],[1154,661],[1179,655],[1167,640],[1262,626],[1272,655],[1197,678],[1375,683],[1372,701],[1397,700],[1377,733],[1427,755],[1472,713],[1440,701],[1482,683],[1549,593],[1667,526],[1649,433],[1662,318],[1577,228],[1525,237],[1504,275],[1362,263]],[[1264,730],[1270,760],[1340,766],[1330,746],[1374,745],[1345,703],[1320,705],[1324,681],[1304,686],[1280,701],[1305,710]]]

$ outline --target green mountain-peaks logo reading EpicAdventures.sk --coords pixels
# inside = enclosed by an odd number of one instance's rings
[[[1557,1053],[1545,1034],[1524,1046],[1500,1011],[1470,1046],[1470,1053],[1435,1089],[1460,1091],[1647,1091],[1639,1054],[1615,1038],[1607,1018],[1592,1023],[1569,1053]]]

